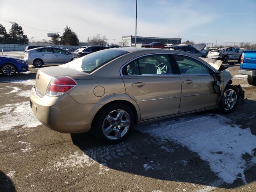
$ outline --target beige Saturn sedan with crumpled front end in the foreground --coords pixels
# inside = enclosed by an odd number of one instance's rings
[[[216,108],[231,112],[242,89],[231,85],[232,76],[218,61],[205,60],[165,49],[95,52],[39,69],[32,111],[53,130],[92,131],[110,143],[137,124]]]

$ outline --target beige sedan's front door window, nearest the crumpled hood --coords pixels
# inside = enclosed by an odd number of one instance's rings
[[[209,69],[206,65],[193,58],[174,55],[174,58],[179,66],[181,74],[209,74]]]

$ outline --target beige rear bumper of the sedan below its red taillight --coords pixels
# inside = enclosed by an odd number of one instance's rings
[[[30,92],[30,106],[46,127],[61,133],[79,133],[90,131],[95,109],[102,105],[79,104],[67,93],[60,97],[41,97],[34,86]]]

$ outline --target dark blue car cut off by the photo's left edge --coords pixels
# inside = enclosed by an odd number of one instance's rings
[[[3,75],[12,76],[16,72],[22,73],[26,71],[28,71],[28,64],[25,60],[14,57],[0,56],[0,73]]]

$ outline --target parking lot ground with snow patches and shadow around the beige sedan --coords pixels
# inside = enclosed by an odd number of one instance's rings
[[[0,74],[0,191],[255,192],[256,86],[238,68],[228,70],[246,100],[231,114],[201,112],[138,126],[116,145],[38,122],[29,104],[37,68]]]

